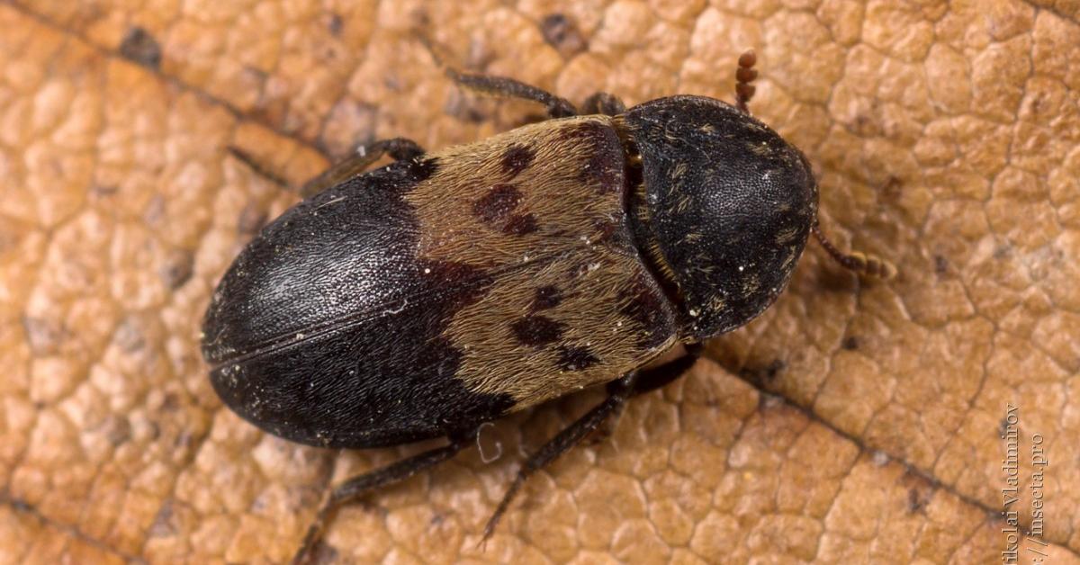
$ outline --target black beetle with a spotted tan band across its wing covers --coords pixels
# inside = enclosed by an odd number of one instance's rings
[[[852,270],[895,272],[821,234],[809,161],[747,109],[755,60],[739,58],[734,105],[679,95],[627,109],[597,93],[581,112],[444,66],[550,119],[434,152],[362,146],[247,244],[203,322],[229,408],[323,447],[448,439],[334,488],[295,561],[340,505],[449,459],[486,422],[607,384],[525,461],[486,539],[530,473],[766,310],[810,233]],[[395,161],[364,172],[382,156]],[[679,344],[685,355],[649,365]]]

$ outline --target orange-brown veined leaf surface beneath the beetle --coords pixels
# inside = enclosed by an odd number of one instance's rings
[[[595,393],[500,423],[492,465],[472,450],[342,511],[328,555],[996,562],[1012,404],[1022,528],[1032,434],[1050,460],[1049,547],[1027,547],[1080,562],[1071,0],[0,4],[0,561],[280,562],[328,484],[416,449],[256,431],[198,336],[216,279],[294,200],[228,145],[298,180],[326,164],[313,146],[440,147],[536,111],[458,93],[421,12],[460,64],[577,102],[730,99],[757,48],[754,110],[818,167],[826,229],[901,275],[860,282],[811,247],[714,361],[532,480],[486,552],[522,454]]]

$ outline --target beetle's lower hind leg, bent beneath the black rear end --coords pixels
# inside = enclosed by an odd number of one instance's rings
[[[354,476],[335,487],[334,490],[330,492],[326,501],[323,502],[322,508],[319,509],[319,513],[315,514],[314,521],[308,527],[308,532],[303,536],[303,542],[300,544],[300,549],[297,550],[296,555],[293,556],[293,565],[307,563],[312,557],[312,551],[315,549],[315,543],[322,537],[323,530],[326,528],[326,525],[329,523],[338,508],[352,502],[374,488],[378,488],[390,483],[396,483],[403,479],[408,479],[409,476],[413,476],[429,467],[434,467],[454,457],[458,452],[472,443],[475,436],[476,431],[462,435],[450,436],[450,443],[448,445],[436,447],[434,449],[414,455],[413,457],[402,459],[401,461],[391,463],[381,469],[376,469],[362,475]]]

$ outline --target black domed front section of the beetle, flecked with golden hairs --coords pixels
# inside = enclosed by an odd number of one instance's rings
[[[816,220],[818,184],[806,157],[713,98],[660,98],[624,120],[642,156],[635,220],[678,287],[681,337],[750,322],[787,284]]]

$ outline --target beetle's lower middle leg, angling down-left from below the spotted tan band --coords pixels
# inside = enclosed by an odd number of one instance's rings
[[[510,484],[507,494],[502,496],[499,507],[496,508],[495,513],[488,519],[487,525],[484,527],[484,537],[481,543],[487,541],[491,537],[491,534],[495,533],[496,526],[499,525],[499,520],[507,512],[507,508],[510,507],[510,502],[522,488],[522,485],[525,484],[525,480],[577,445],[589,432],[595,430],[600,422],[619,411],[622,403],[626,402],[626,399],[633,394],[637,378],[638,372],[632,371],[626,376],[612,382],[609,388],[611,392],[604,402],[589,411],[584,416],[578,418],[573,423],[567,426],[563,431],[558,432],[558,435],[552,438],[543,447],[529,456],[517,471],[517,476]]]

